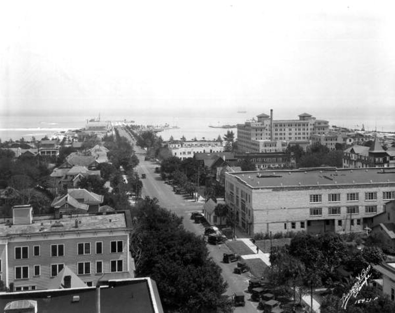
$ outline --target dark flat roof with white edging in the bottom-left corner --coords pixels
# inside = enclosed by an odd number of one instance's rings
[[[66,275],[67,277],[69,275]],[[130,279],[100,278],[98,286],[72,287],[64,279],[60,288],[0,293],[4,312],[147,312],[163,313],[156,282],[149,277]]]

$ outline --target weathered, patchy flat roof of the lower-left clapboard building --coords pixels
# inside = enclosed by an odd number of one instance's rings
[[[9,218],[9,220],[12,221],[12,218]],[[78,220],[78,228],[75,227],[75,220]],[[33,224],[24,225],[0,224],[0,236],[6,237],[12,235],[49,233],[60,231],[86,231],[126,228],[125,214],[123,212],[105,215],[63,215],[63,217],[59,219],[48,218],[41,220],[38,218],[33,218],[33,221]]]

